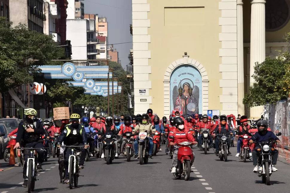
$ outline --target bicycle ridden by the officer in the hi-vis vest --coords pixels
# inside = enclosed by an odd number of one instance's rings
[[[74,187],[77,188],[78,178],[80,176],[80,169],[79,169],[79,162],[77,160],[77,148],[85,148],[84,145],[82,146],[75,146],[75,145],[62,145],[62,148],[71,148],[71,154],[68,158],[68,183],[69,189]],[[88,151],[86,151],[88,154]],[[90,157],[88,155],[88,157]]]

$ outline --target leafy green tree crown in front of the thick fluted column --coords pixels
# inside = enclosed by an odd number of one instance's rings
[[[286,99],[288,93],[284,88],[284,78],[289,64],[289,60],[283,57],[266,58],[262,63],[257,62],[252,75],[255,82],[250,86],[249,93],[245,94],[243,103],[254,107]]]

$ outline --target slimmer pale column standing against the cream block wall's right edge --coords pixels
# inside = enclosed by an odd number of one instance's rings
[[[243,1],[237,0],[237,63],[238,63],[238,113],[245,115],[244,98],[244,38],[243,38]]]

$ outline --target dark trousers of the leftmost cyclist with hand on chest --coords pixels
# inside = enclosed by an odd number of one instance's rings
[[[44,148],[43,143],[42,142],[32,142],[32,143],[26,143],[25,148]],[[47,151],[47,150],[46,150]],[[35,163],[39,163],[41,164],[44,161],[44,155],[45,155],[45,151],[40,150],[40,149],[36,149],[36,152],[38,154],[37,156],[37,160],[35,160]],[[28,177],[26,176],[26,166],[27,166],[27,160],[28,157],[30,155],[30,150],[29,149],[25,149],[24,150],[24,166],[23,166],[23,178],[27,179]]]

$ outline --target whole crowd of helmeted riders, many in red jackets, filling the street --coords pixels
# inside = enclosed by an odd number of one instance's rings
[[[80,162],[79,169],[84,168],[84,161],[87,152],[92,151],[94,141],[89,141],[88,136],[93,134],[97,136],[103,136],[104,134],[118,135],[122,138],[120,144],[120,151],[117,150],[117,141],[115,144],[115,157],[119,154],[123,154],[126,137],[123,136],[126,132],[131,132],[133,136],[130,138],[132,141],[132,148],[135,152],[134,159],[139,159],[138,148],[138,133],[146,132],[149,139],[149,159],[153,156],[153,138],[155,132],[160,133],[161,136],[166,136],[165,153],[169,154],[170,147],[173,152],[173,162],[171,172],[176,172],[177,167],[177,152],[179,146],[176,145],[182,140],[188,140],[193,144],[196,144],[198,148],[202,147],[202,134],[207,131],[210,134],[209,145],[210,148],[215,149],[215,154],[219,154],[219,139],[221,134],[227,134],[235,136],[237,140],[237,154],[240,155],[240,148],[242,139],[240,135],[251,135],[250,143],[260,142],[268,137],[273,137],[277,143],[280,143],[279,139],[268,128],[267,122],[259,120],[257,122],[257,128],[252,128],[248,125],[248,119],[244,116],[239,116],[238,119],[241,123],[237,128],[235,127],[235,119],[231,114],[229,116],[221,115],[209,117],[206,114],[188,115],[186,119],[182,115],[182,111],[173,111],[170,117],[158,117],[157,114],[153,114],[152,109],[148,109],[144,114],[137,114],[136,116],[124,116],[120,117],[80,117],[79,114],[71,114],[70,119],[54,120],[53,117],[49,119],[39,119],[36,117],[36,110],[28,108],[24,110],[26,117],[19,124],[18,128],[13,131],[17,132],[16,145],[14,148],[44,148],[46,146],[45,141],[54,138],[56,134],[59,134],[57,140],[57,147],[60,148],[59,159],[63,159],[65,163],[65,183],[68,183],[68,157],[70,154],[70,148],[63,148],[63,145],[79,145],[84,148],[79,148]],[[191,132],[192,131],[192,132]],[[13,133],[13,134],[14,134]],[[12,133],[10,133],[11,135]],[[170,137],[171,136],[171,137]],[[213,143],[215,141],[215,143]],[[257,172],[257,149],[259,146],[252,146],[250,156],[253,159],[255,166],[254,172]],[[37,157],[37,169],[42,170],[42,163],[51,156],[51,145],[48,145],[48,150],[38,149]],[[227,139],[228,154],[231,154],[230,140]],[[90,151],[88,151],[90,150]],[[159,147],[158,151],[162,151]],[[46,153],[47,152],[47,153]],[[26,176],[26,162],[28,159],[28,151],[24,151],[25,164],[23,167],[24,183],[22,186],[26,187],[28,183],[28,177]],[[273,171],[277,171],[275,164],[277,163],[278,152],[273,152]],[[101,158],[104,158],[104,153],[101,154]]]

